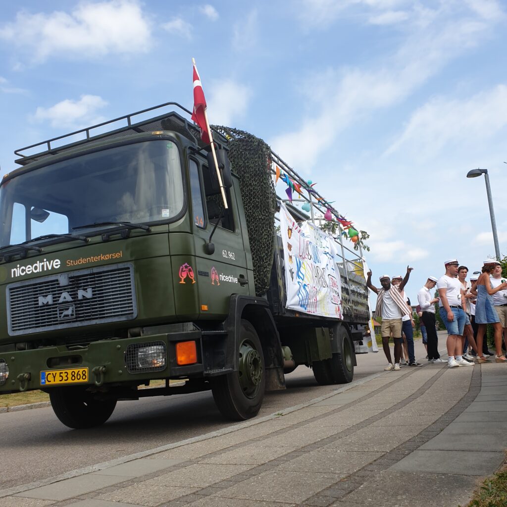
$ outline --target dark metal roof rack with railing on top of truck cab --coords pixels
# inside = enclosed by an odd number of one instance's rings
[[[59,153],[74,150],[77,147],[90,146],[96,142],[103,141],[105,139],[126,137],[128,135],[138,134],[140,132],[153,132],[156,130],[172,130],[178,132],[179,134],[195,142],[200,149],[205,148],[207,145],[201,140],[201,131],[199,127],[194,125],[191,121],[188,121],[183,116],[178,115],[174,111],[156,116],[154,118],[143,119],[138,122],[136,122],[134,119],[135,116],[148,113],[154,110],[159,110],[163,107],[171,105],[179,107],[180,110],[184,111],[189,115],[192,114],[191,111],[189,111],[182,105],[178,104],[177,102],[166,102],[164,104],[156,105],[154,107],[149,107],[148,109],[143,109],[142,111],[137,111],[136,113],[131,113],[129,115],[115,118],[114,120],[108,120],[106,122],[99,123],[91,127],[76,130],[75,132],[70,132],[69,134],[53,137],[52,139],[38,142],[36,144],[30,144],[30,146],[26,146],[24,148],[20,148],[14,151],[14,154],[20,157],[16,159],[15,162],[19,165],[24,166],[32,162],[43,160],[47,157],[52,157],[53,155],[57,155]],[[106,132],[103,132],[102,129],[103,127],[107,128],[107,126],[110,126],[110,128],[112,128],[113,124],[122,121],[126,122],[126,125],[120,127],[117,126],[117,128],[113,128],[112,130],[107,130]],[[101,128],[101,133],[93,135],[92,131],[95,129],[98,130],[99,128]],[[227,139],[223,135],[221,135],[219,132],[216,132],[214,129],[213,131],[214,131],[213,135],[214,140],[222,144],[227,144]],[[71,138],[79,135],[84,136],[84,138],[74,140],[73,142],[69,142]],[[29,153],[26,153],[28,151]]]

